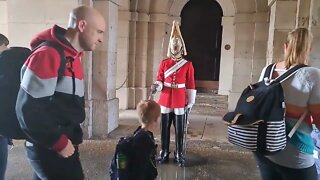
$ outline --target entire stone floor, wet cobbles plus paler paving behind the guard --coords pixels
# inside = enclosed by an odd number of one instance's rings
[[[219,116],[191,114],[189,116],[186,167],[158,165],[159,180],[259,180],[259,172],[250,152],[227,142],[226,126]],[[81,146],[81,160],[86,179],[108,178],[108,165],[120,136],[128,135],[138,126],[135,111],[120,112],[119,127],[105,140],[86,140]],[[171,151],[174,150],[172,128]],[[159,143],[159,132],[155,132]],[[32,179],[26,161],[23,142],[16,141],[9,154],[8,180]]]

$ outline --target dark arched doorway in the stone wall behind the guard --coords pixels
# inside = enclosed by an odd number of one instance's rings
[[[198,92],[218,90],[222,8],[212,0],[190,0],[181,11],[181,31],[193,63]]]

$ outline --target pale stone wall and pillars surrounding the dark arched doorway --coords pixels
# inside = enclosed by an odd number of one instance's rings
[[[0,32],[11,46],[29,46],[38,32],[66,27],[79,4],[106,17],[102,46],[83,59],[88,137],[105,136],[118,126],[120,109],[133,109],[149,95],[159,63],[166,58],[171,23],[188,0],[0,0]],[[217,0],[223,9],[219,94],[229,109],[261,69],[281,60],[287,33],[308,27],[314,34],[311,64],[320,67],[319,0]],[[62,8],[63,7],[63,8]],[[225,48],[230,46],[230,49]]]

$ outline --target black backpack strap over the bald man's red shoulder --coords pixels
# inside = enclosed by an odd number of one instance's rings
[[[53,41],[43,41],[37,47],[32,49],[32,53],[35,52],[37,49],[39,49],[42,46],[52,47],[59,53],[59,55],[60,55],[60,67],[59,67],[59,70],[58,70],[58,79],[60,79],[64,75],[64,71],[66,69],[66,62],[67,62],[67,59],[66,59],[66,57],[64,55],[62,46],[59,45],[56,42],[53,42]]]

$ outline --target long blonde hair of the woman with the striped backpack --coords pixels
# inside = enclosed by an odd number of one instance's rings
[[[286,68],[292,65],[308,64],[312,34],[307,28],[297,28],[289,32],[287,52],[284,55]]]

